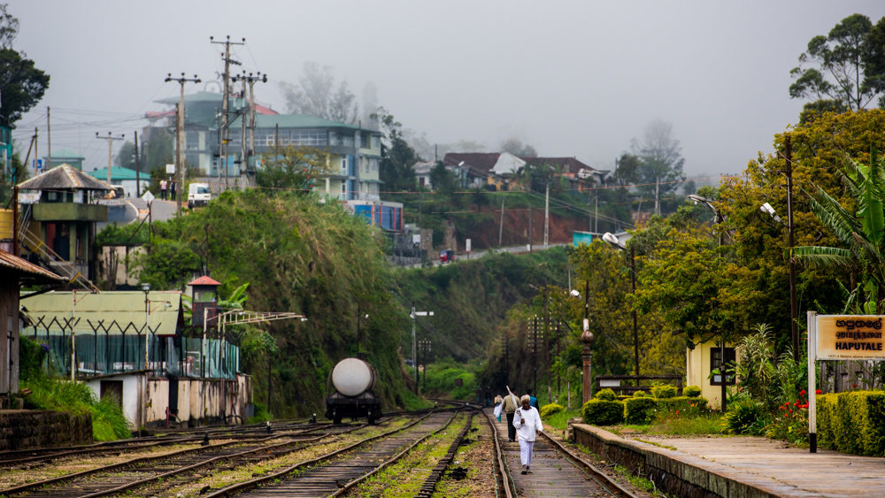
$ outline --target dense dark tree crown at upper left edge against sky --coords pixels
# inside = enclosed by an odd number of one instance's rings
[[[50,75],[35,67],[24,53],[0,49],[0,119],[15,127],[15,122],[40,102],[50,86]]]

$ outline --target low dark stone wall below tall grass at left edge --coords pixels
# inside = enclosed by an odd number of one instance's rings
[[[92,444],[92,416],[0,410],[0,451]]]

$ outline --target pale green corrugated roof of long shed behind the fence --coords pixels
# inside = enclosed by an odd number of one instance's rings
[[[25,294],[23,294],[24,296]],[[126,328],[130,323],[136,329],[144,328],[144,293],[141,291],[114,291],[96,294],[76,293],[76,303],[73,303],[71,292],[48,292],[42,295],[28,297],[25,301],[27,314],[36,322],[43,318],[44,324],[49,324],[52,318],[71,318],[72,310],[74,318],[81,318],[74,330],[77,333],[93,333],[93,325],[103,321],[104,326],[109,326],[114,320],[120,327]],[[183,321],[181,310],[181,291],[158,290],[148,293],[150,302],[150,330],[158,327],[157,333],[172,335],[179,324]],[[166,305],[168,303],[168,306]],[[41,330],[37,326],[38,332]],[[99,332],[103,333],[103,332]],[[119,334],[119,329],[113,327],[112,334]],[[131,328],[128,333],[135,333]]]

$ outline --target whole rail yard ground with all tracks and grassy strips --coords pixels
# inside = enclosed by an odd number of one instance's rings
[[[535,451],[537,472],[519,475],[519,450],[489,410],[440,402],[377,425],[290,420],[3,452],[0,495],[635,496],[555,436]]]

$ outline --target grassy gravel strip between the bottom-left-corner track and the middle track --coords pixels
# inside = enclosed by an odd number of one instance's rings
[[[403,425],[409,424],[412,420],[413,419],[404,417],[394,418],[389,421],[381,422],[380,425],[363,427],[352,433],[330,436],[328,440],[308,443],[306,448],[301,448],[289,453],[289,455],[265,460],[258,464],[235,462],[234,464],[222,465],[220,469],[203,470],[194,476],[190,476],[189,482],[184,482],[185,479],[182,479],[181,485],[172,487],[166,493],[170,496],[175,496],[177,494],[181,494],[185,497],[199,496],[200,490],[206,486],[212,487],[213,490],[217,490],[222,487],[232,486],[243,481],[273,473],[274,471],[281,471],[285,467],[290,467],[300,462],[304,462],[305,460],[311,460],[326,455],[327,453],[344,448],[367,437],[392,431]],[[273,442],[279,443],[282,441]],[[227,468],[226,466],[229,466],[230,468]],[[303,469],[291,473],[288,477],[295,477],[299,473],[307,470],[308,469]],[[194,477],[196,477],[196,479],[192,479]]]

